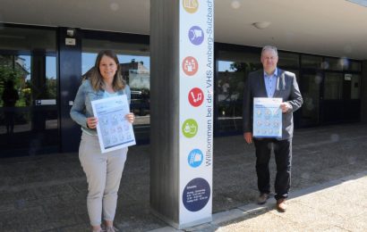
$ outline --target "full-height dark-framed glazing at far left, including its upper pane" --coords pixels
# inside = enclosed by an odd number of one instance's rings
[[[0,157],[59,151],[55,29],[0,30]]]

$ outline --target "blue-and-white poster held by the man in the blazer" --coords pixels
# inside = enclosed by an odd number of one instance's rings
[[[253,137],[282,137],[282,98],[253,98]]]

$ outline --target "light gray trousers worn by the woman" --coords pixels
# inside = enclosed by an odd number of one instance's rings
[[[87,208],[90,225],[113,221],[117,205],[117,192],[123,175],[127,147],[101,153],[98,137],[83,132],[79,146],[79,159],[88,182]]]

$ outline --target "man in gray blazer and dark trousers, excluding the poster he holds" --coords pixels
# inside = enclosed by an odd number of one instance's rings
[[[260,196],[258,203],[266,203],[270,194],[269,159],[271,149],[275,154],[277,176],[275,198],[277,211],[286,211],[286,198],[291,183],[293,112],[303,104],[295,75],[277,68],[277,47],[264,46],[261,52],[263,70],[251,72],[246,81],[243,95],[243,137],[252,144],[253,97],[282,98],[282,137],[253,137],[256,149],[256,173]]]

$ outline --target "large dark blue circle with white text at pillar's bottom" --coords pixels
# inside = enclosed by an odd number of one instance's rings
[[[204,178],[192,179],[183,189],[183,205],[188,211],[200,211],[210,198],[210,186]]]

